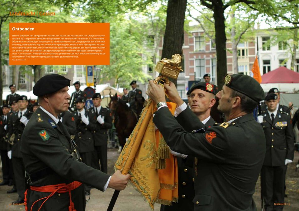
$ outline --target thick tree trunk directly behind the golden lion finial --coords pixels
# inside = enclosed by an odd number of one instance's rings
[[[174,54],[180,54],[182,56],[186,8],[187,0],[168,0],[161,59],[171,59],[171,56]],[[169,80],[176,85],[177,80],[171,78]]]

